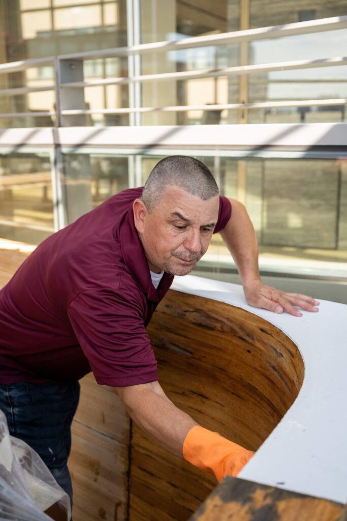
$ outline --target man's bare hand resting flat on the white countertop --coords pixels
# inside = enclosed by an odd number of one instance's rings
[[[296,309],[300,307],[306,311],[317,312],[319,302],[311,296],[302,295],[301,293],[286,293],[277,290],[272,286],[265,286],[260,280],[255,280],[244,287],[245,297],[251,306],[262,307],[274,313],[283,313],[286,311],[295,317],[301,317],[302,313]]]

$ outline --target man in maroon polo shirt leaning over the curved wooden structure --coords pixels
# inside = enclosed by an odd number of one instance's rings
[[[152,438],[217,479],[252,456],[166,397],[145,330],[173,276],[188,274],[218,231],[249,304],[318,311],[311,297],[262,284],[245,208],[220,197],[209,169],[185,156],[161,160],[143,190],[112,196],[46,239],[0,292],[0,408],[71,498],[70,426],[78,380],[91,370]]]

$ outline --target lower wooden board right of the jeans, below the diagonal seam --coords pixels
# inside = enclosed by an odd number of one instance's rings
[[[128,446],[73,422],[69,469],[74,521],[125,521]]]

